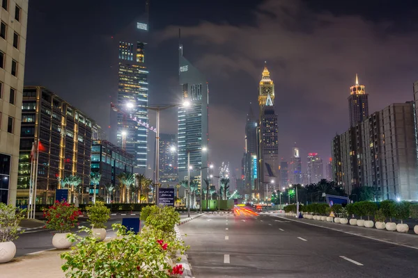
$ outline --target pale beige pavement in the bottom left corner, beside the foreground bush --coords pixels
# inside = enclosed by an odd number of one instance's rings
[[[68,250],[65,250],[68,251]],[[39,254],[20,256],[9,263],[0,264],[1,278],[63,278],[60,254],[65,251],[45,251]]]

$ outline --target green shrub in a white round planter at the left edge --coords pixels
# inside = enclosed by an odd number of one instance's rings
[[[20,210],[11,204],[4,204],[0,202],[0,243],[6,243],[18,238],[18,234],[24,231],[19,231],[20,220],[24,218],[26,209]]]

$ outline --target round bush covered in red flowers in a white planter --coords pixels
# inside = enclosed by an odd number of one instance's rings
[[[44,210],[44,217],[47,218],[45,228],[54,229],[60,233],[66,233],[77,226],[77,218],[82,212],[74,205],[68,204],[65,200],[55,201],[53,206]]]

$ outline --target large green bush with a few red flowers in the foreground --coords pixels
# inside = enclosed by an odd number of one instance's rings
[[[121,224],[112,227],[118,230],[117,237],[109,242],[97,242],[87,227],[81,229],[90,236],[69,236],[78,243],[70,252],[61,254],[65,277],[167,278],[183,274],[183,266],[173,263],[176,258],[170,254],[171,247],[180,246],[176,238],[159,238],[162,231],[150,227],[141,234],[126,231]]]

